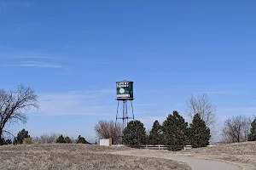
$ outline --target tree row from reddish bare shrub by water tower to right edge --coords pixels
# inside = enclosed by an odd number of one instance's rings
[[[128,145],[165,144],[172,150],[180,150],[184,145],[203,147],[210,143],[212,135],[221,134],[222,143],[236,143],[256,140],[256,117],[254,120],[247,116],[231,116],[224,122],[222,129],[218,129],[216,106],[212,105],[207,94],[191,95],[186,103],[187,116],[192,123],[184,121],[177,111],[166,117],[160,125],[155,121],[153,127],[146,133],[143,122],[131,121],[125,129],[119,122],[99,121],[95,132],[100,138],[112,138],[113,144],[122,142]]]

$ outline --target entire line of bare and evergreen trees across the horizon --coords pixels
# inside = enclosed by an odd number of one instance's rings
[[[186,106],[187,116],[193,119],[191,124],[185,122],[183,116],[180,116],[177,111],[173,111],[162,125],[159,122],[154,122],[150,133],[146,135],[144,135],[145,130],[137,130],[137,128],[144,128],[143,123],[137,121],[129,122],[125,129],[122,129],[119,123],[114,123],[113,121],[100,121],[96,124],[95,131],[100,138],[113,138],[114,144],[120,142],[125,142],[125,144],[155,144],[156,142],[158,144],[170,145],[170,147],[176,145],[176,149],[179,149],[183,144],[192,144],[195,147],[209,144],[209,139],[219,132],[216,106],[212,105],[207,94],[191,95],[186,102]],[[14,142],[21,144],[24,142],[21,139],[30,143],[31,138],[26,134],[27,131],[25,129],[20,131],[20,134],[18,133],[15,137],[5,127],[16,122],[26,123],[26,112],[38,109],[38,107],[38,95],[35,94],[32,88],[20,84],[15,91],[0,89],[0,145]],[[129,127],[137,128],[134,128],[134,133],[132,133],[133,131]],[[3,139],[3,134],[12,135],[15,137],[15,141]],[[138,134],[141,137],[138,138]],[[254,141],[256,140],[256,117],[251,121],[247,116],[231,116],[224,122],[221,134],[224,143]],[[62,135],[57,137],[58,141],[55,135],[43,135],[43,137],[42,143],[45,141],[49,143],[70,142],[69,138]],[[123,137],[123,139],[120,139],[120,137]],[[80,136],[77,140],[84,142],[85,139]]]

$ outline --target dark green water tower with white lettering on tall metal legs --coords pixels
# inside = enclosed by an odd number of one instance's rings
[[[134,119],[133,113],[133,82],[121,81],[116,82],[116,93],[118,100],[118,107],[116,113],[116,122],[119,119],[123,121],[123,128],[126,127],[129,119]]]

